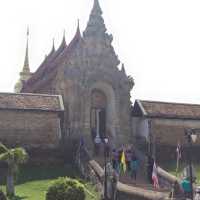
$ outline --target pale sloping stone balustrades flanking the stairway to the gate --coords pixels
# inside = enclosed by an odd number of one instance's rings
[[[146,179],[145,156],[138,151],[137,155],[140,160],[140,170],[137,181],[133,181],[128,173],[121,174],[117,183],[117,200],[157,200],[169,199],[172,186],[175,181],[179,180],[158,167],[158,176],[160,188],[155,189]],[[104,157],[91,156],[85,145],[80,145],[77,150],[76,163],[84,178],[92,181],[99,192],[103,193],[104,189]],[[173,198],[175,199],[175,198]]]

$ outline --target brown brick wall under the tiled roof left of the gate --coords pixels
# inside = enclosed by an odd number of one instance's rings
[[[0,142],[9,147],[56,148],[61,137],[58,112],[0,111]]]

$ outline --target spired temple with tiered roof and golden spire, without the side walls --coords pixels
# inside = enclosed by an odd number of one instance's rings
[[[61,95],[66,137],[83,136],[88,143],[108,137],[113,145],[130,142],[130,91],[134,81],[120,64],[112,40],[99,2],[94,0],[83,33],[78,23],[71,42],[66,44],[63,36],[58,49],[53,45],[34,73],[30,73],[27,41],[24,67],[15,91]]]

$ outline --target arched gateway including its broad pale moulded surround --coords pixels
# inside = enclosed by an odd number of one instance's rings
[[[103,134],[105,134],[105,136],[108,137],[110,144],[115,146],[117,142],[116,130],[118,129],[119,124],[115,92],[112,86],[106,82],[96,81],[95,83],[90,85],[91,87],[88,88],[86,94],[84,108],[85,133],[88,133],[88,136],[90,136],[90,138],[88,138],[88,144],[90,147],[92,147],[91,142],[94,142],[97,131],[97,117],[100,116],[100,118],[102,119],[100,121],[103,125],[99,125],[99,129],[101,130],[102,136]],[[100,112],[99,115],[97,115],[97,111],[95,112],[96,108],[100,108],[100,111],[104,111]],[[93,140],[91,140],[91,136]]]

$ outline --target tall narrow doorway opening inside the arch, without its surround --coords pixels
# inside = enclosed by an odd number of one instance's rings
[[[106,95],[99,89],[91,92],[90,124],[93,139],[102,139],[106,136]]]

